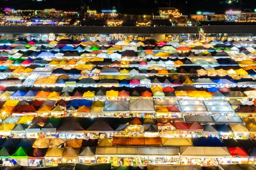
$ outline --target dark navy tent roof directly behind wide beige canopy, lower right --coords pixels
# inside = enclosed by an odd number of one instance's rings
[[[200,137],[192,138],[194,146],[200,147],[226,147],[226,144],[221,142],[217,137]]]

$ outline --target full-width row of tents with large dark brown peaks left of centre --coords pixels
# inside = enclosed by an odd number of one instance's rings
[[[68,119],[67,119],[68,118]],[[182,118],[47,118],[9,116],[0,125],[0,134],[11,136],[11,133],[115,133],[140,125],[138,132],[154,133],[158,136],[161,130],[218,133],[255,133],[256,121],[253,118],[239,116],[184,116]],[[68,121],[68,122],[67,122]],[[169,127],[163,128],[162,127]],[[117,140],[117,139],[116,139]],[[158,140],[158,139],[157,139]],[[160,142],[160,138],[159,138]]]

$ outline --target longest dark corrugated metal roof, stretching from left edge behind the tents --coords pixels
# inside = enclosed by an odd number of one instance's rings
[[[198,34],[198,27],[136,27],[136,26],[0,26],[0,33],[62,33],[62,34]]]

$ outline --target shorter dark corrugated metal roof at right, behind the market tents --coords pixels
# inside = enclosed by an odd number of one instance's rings
[[[202,26],[204,33],[242,34],[256,33],[256,26]]]

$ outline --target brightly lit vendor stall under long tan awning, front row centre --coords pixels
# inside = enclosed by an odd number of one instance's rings
[[[178,147],[130,146],[96,148],[97,163],[112,163],[113,166],[180,164],[178,155]]]

